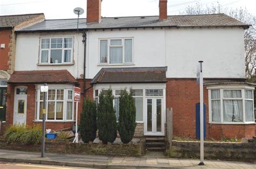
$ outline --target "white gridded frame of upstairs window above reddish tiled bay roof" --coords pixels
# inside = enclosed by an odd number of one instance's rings
[[[72,38],[72,48],[64,48],[64,38]],[[50,39],[50,46],[49,48],[42,49],[42,40],[43,39]],[[51,48],[51,39],[62,39],[62,48]],[[70,65],[73,63],[73,48],[74,48],[74,38],[73,37],[42,37],[40,38],[40,43],[39,43],[39,65]],[[62,62],[55,64],[51,64],[51,50],[62,50]],[[64,51],[65,50],[71,50],[71,58],[70,62],[64,62]],[[41,62],[42,61],[42,51],[48,51],[48,62]]]

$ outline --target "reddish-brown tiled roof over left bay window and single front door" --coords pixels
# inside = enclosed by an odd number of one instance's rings
[[[78,83],[67,70],[59,71],[15,71],[8,83]]]

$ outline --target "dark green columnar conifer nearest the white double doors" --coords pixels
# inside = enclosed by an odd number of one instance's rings
[[[130,93],[122,90],[119,97],[118,132],[124,144],[131,142],[135,128],[136,107],[134,98],[132,97],[132,89],[130,89]]]

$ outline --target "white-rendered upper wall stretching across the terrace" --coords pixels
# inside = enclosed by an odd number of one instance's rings
[[[74,65],[39,66],[39,38],[73,36]],[[99,39],[134,39],[134,64],[99,65]],[[17,34],[16,71],[68,69],[75,77],[83,74],[82,33]],[[79,42],[79,43],[78,43]],[[240,28],[123,29],[87,32],[86,78],[92,79],[103,67],[167,66],[167,78],[196,78],[196,66],[204,61],[205,78],[245,78],[244,30]]]

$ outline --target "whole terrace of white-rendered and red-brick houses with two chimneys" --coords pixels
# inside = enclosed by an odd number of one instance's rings
[[[56,19],[16,31],[6,121],[42,124],[45,82],[46,128],[54,130],[75,123],[73,87],[96,102],[111,87],[117,117],[120,90],[132,88],[136,136],[165,136],[172,108],[173,135],[195,138],[196,69],[203,60],[206,137],[255,136],[255,85],[246,82],[244,60],[250,25],[221,13],[167,16],[167,0],[159,1],[159,16],[101,17],[101,3],[87,0],[78,30],[77,19]]]

